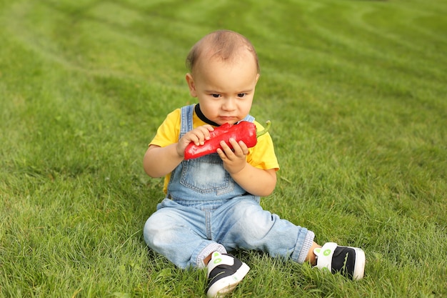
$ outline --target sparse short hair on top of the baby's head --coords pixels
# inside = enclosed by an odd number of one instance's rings
[[[199,61],[199,58],[206,50],[211,53],[211,57],[219,56],[219,58],[226,61],[234,59],[237,50],[241,48],[245,48],[253,54],[256,62],[256,71],[259,73],[258,54],[256,54],[253,44],[242,34],[231,30],[214,31],[197,41],[186,57],[186,67],[192,72],[197,61]]]

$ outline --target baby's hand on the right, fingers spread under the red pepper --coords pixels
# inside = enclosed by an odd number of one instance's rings
[[[217,154],[224,162],[226,171],[230,174],[236,174],[246,165],[248,147],[243,141],[236,141],[235,139],[229,139],[228,141],[233,146],[233,149],[225,141],[221,141],[222,149],[217,149]]]

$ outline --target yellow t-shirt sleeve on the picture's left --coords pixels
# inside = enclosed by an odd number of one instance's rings
[[[157,129],[157,133],[150,145],[168,146],[179,141],[180,134],[180,109],[172,111]]]

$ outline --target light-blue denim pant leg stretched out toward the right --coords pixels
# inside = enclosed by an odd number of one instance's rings
[[[213,213],[212,236],[227,250],[254,249],[303,263],[314,234],[263,210],[258,197],[231,199]]]

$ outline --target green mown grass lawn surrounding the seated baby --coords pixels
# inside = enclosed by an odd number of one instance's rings
[[[0,297],[203,297],[142,239],[161,179],[141,161],[194,102],[214,29],[261,61],[252,114],[281,164],[263,207],[362,247],[366,277],[236,252],[232,297],[446,297],[445,1],[0,0]]]

